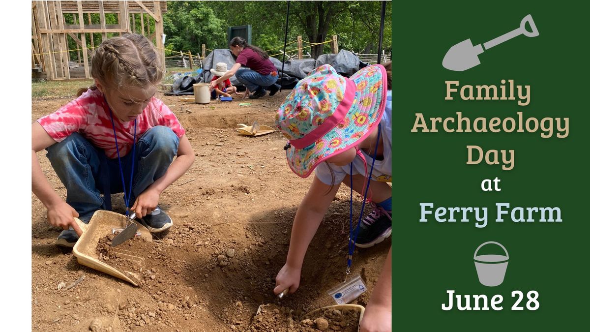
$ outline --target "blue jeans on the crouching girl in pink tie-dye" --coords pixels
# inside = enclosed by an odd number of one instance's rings
[[[178,151],[178,142],[178,136],[166,126],[150,128],[137,140],[130,207],[139,194],[168,170]],[[105,191],[123,193],[117,158],[106,158],[102,149],[94,147],[77,132],[48,147],[47,158],[67,190],[65,202],[80,214],[81,220],[90,220],[96,210],[110,209],[101,197]],[[121,158],[121,164],[125,188],[129,191],[131,152]],[[106,186],[108,188],[104,188]]]

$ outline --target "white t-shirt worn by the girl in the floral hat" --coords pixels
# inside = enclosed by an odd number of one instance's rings
[[[375,160],[375,166],[373,166],[373,181],[391,182],[391,90],[387,91],[387,101],[385,102],[385,110],[383,116],[379,122],[379,128],[381,128],[381,137],[383,139],[383,160]],[[371,163],[373,157],[362,151],[365,156],[367,163],[367,175],[371,171]],[[334,173],[334,183],[342,183],[346,174],[350,174],[350,164],[344,167],[330,164]],[[332,175],[326,162],[320,162],[316,167],[316,177],[325,184],[332,184]],[[357,155],[355,160],[352,161],[352,174],[363,174],[365,175],[365,165],[363,160]]]

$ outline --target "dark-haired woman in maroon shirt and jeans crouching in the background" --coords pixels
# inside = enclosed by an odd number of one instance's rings
[[[217,84],[234,76],[246,86],[245,96],[250,92],[253,95],[250,99],[260,98],[266,95],[266,89],[270,91],[270,96],[277,93],[280,86],[276,84],[278,79],[278,70],[274,67],[268,54],[261,50],[260,47],[249,45],[242,37],[234,37],[230,41],[231,53],[238,57],[234,66],[225,74],[216,80],[211,81],[211,90],[215,89]],[[250,69],[240,69],[241,66]]]

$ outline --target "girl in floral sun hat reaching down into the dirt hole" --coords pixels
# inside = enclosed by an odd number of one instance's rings
[[[276,125],[289,139],[289,167],[302,178],[315,174],[297,209],[275,294],[299,287],[307,247],[340,184],[368,192],[373,206],[355,228],[354,245],[368,248],[391,235],[391,63],[386,66],[365,67],[350,79],[327,64],[318,67],[276,113]]]

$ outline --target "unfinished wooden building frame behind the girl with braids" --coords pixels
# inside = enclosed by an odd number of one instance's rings
[[[84,66],[84,76],[90,79],[89,60],[94,53],[94,45],[100,44],[98,41],[95,43],[93,34],[100,33],[101,40],[106,40],[109,37],[107,34],[136,32],[154,43],[162,70],[165,70],[162,14],[166,11],[166,1],[32,1],[32,69],[41,68],[49,80],[70,79],[70,38],[77,45],[78,61],[81,51],[83,63],[80,65]],[[100,22],[91,21],[90,14],[96,13],[100,14]],[[73,15],[74,24],[65,24],[64,15],[68,14]],[[106,24],[105,14],[117,14],[117,24]],[[137,22],[141,22],[141,31],[136,31],[136,15],[139,15]],[[150,33],[152,20],[155,21],[155,31]],[[88,38],[90,47],[87,45]]]

